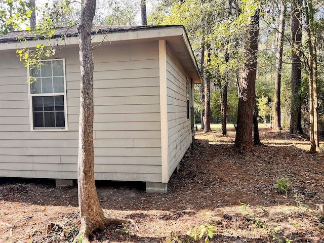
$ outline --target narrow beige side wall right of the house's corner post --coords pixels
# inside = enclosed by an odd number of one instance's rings
[[[172,175],[192,142],[192,131],[190,117],[187,119],[186,75],[170,50],[167,52],[167,84],[169,175]]]

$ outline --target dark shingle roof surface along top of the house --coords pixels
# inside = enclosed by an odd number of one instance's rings
[[[129,30],[141,30],[141,29],[153,29],[153,28],[165,28],[171,27],[171,25],[164,26],[141,26],[141,25],[101,25],[94,26],[92,34],[103,34],[109,32],[125,32]],[[174,27],[174,25],[173,25]],[[52,38],[72,37],[77,36],[77,27],[59,27],[55,29],[55,34]],[[27,30],[12,31],[7,35],[0,35],[0,43],[19,42],[21,40],[32,41],[35,39],[44,39],[44,36],[37,36],[36,33]]]

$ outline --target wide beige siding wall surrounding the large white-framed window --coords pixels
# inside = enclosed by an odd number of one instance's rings
[[[65,58],[68,131],[30,131],[27,69],[0,59],[0,176],[76,179],[79,65]],[[93,51],[97,180],[161,181],[158,42],[102,43]]]

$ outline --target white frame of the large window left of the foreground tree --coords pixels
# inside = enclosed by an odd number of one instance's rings
[[[64,58],[55,58],[55,59],[44,59],[42,61],[63,61],[63,79],[64,79],[64,92],[63,93],[44,93],[44,94],[31,94],[30,92],[30,83],[28,82],[28,102],[29,102],[29,125],[30,131],[68,131],[67,128],[67,98],[66,98],[66,73],[65,73],[65,59]],[[27,76],[30,77],[30,69],[27,67]],[[34,128],[34,121],[33,121],[33,107],[32,107],[32,97],[34,96],[62,96],[64,100],[64,124],[65,127],[61,128]]]

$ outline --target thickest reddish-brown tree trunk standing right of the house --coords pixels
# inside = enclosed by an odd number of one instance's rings
[[[259,10],[249,26],[248,37],[244,46],[244,64],[239,79],[237,130],[234,147],[253,150],[252,127],[255,95],[255,79],[258,59]]]

